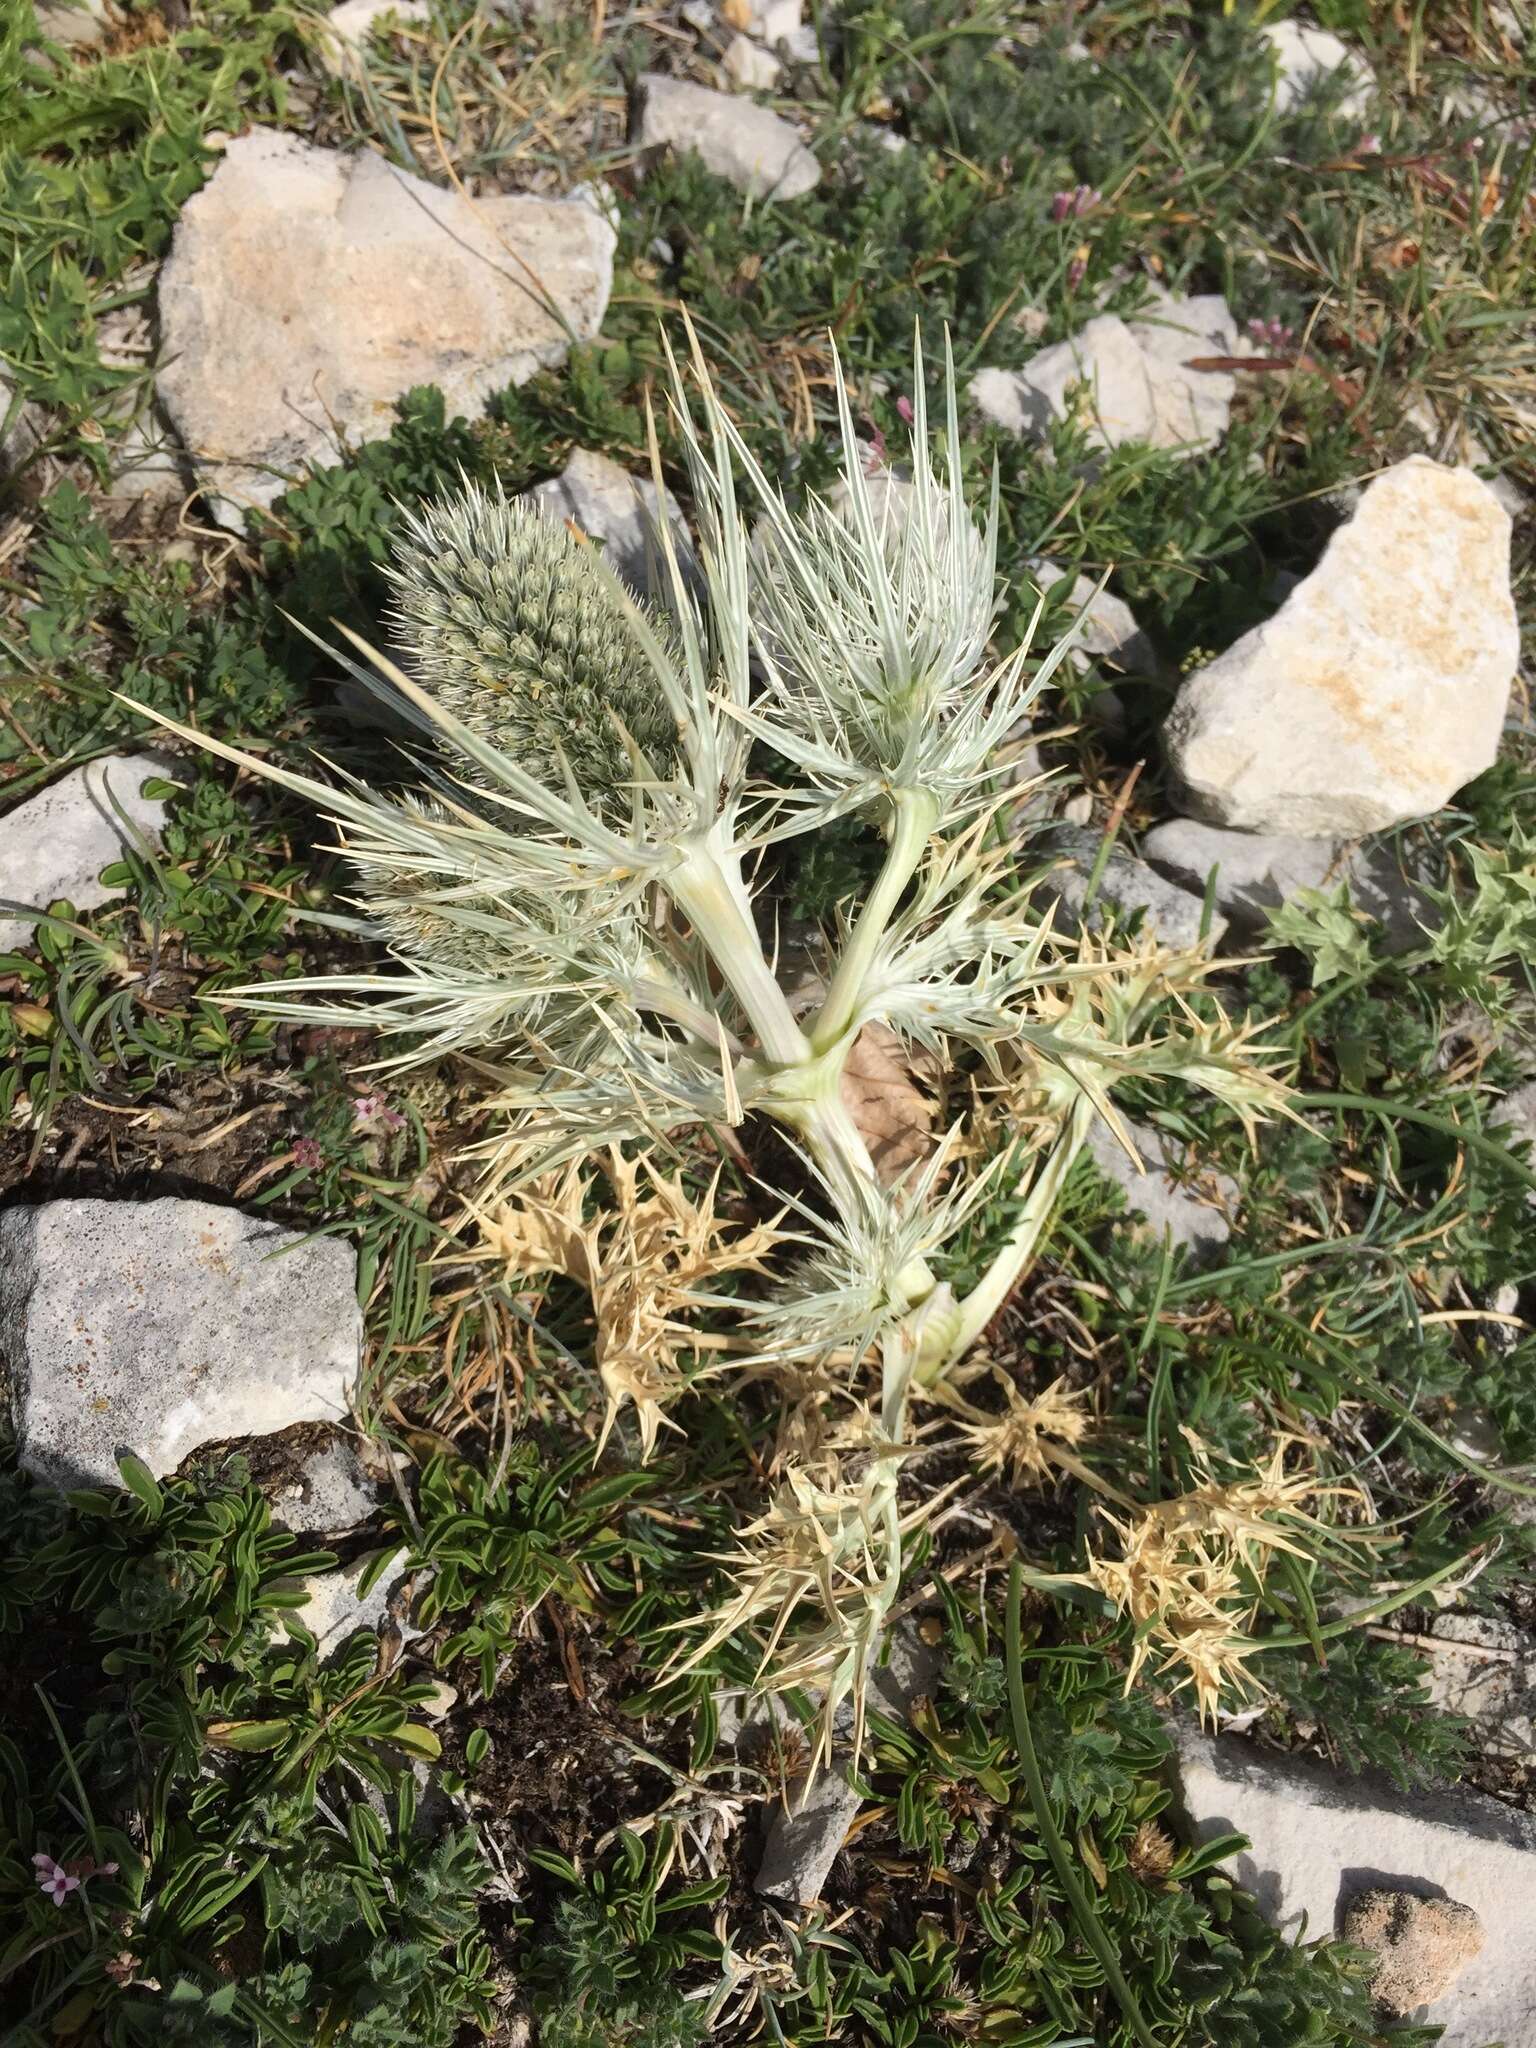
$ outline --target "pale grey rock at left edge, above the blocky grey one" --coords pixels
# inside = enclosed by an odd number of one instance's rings
[[[135,848],[135,836],[156,844],[166,823],[166,805],[145,797],[143,784],[176,774],[164,754],[104,754],[27,797],[0,817],[0,897],[33,909],[59,897],[80,911],[111,903],[123,889],[100,881],[100,870]],[[31,918],[0,915],[0,952],[31,946],[35,930]]]

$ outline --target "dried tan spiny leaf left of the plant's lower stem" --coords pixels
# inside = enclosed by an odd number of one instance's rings
[[[694,1200],[680,1176],[666,1180],[651,1161],[614,1151],[604,1171],[612,1208],[588,1214],[592,1182],[569,1165],[475,1219],[481,1255],[508,1280],[565,1274],[588,1290],[598,1376],[608,1395],[598,1450],[625,1401],[633,1401],[641,1458],[649,1458],[662,1425],[676,1427],[666,1407],[688,1386],[682,1356],[709,1343],[684,1317],[727,1305],[709,1282],[764,1272],[780,1233],[766,1223],[731,1229],[715,1212],[719,1176]]]

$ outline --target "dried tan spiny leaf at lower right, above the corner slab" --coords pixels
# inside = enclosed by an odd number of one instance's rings
[[[1331,1540],[1307,1503],[1360,1497],[1311,1473],[1286,1475],[1286,1450],[1284,1440],[1276,1444],[1270,1464],[1251,1479],[1219,1481],[1196,1446],[1198,1487],[1126,1518],[1104,1516],[1120,1556],[1090,1550],[1087,1571],[1069,1583],[1096,1587],[1135,1624],[1126,1690],[1151,1657],[1159,1671],[1182,1673],[1176,1690],[1194,1690],[1202,1720],[1217,1718],[1225,1690],[1255,1690],[1245,1659],[1262,1649],[1249,1630],[1270,1559],[1309,1559]]]

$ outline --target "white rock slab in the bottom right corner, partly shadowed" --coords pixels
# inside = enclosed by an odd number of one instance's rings
[[[1497,1800],[1409,1792],[1337,1778],[1317,1763],[1237,1737],[1180,1733],[1180,1782],[1194,1841],[1247,1835],[1229,1860],[1266,1917],[1288,1937],[1329,1935],[1350,1898],[1380,1884],[1468,1905],[1487,1946],[1438,2001],[1442,2048],[1536,2040],[1536,1821]]]

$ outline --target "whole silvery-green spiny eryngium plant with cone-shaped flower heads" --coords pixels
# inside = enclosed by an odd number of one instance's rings
[[[397,659],[358,641],[365,662],[346,666],[414,721],[418,795],[201,743],[330,815],[358,877],[352,928],[391,956],[242,997],[385,1030],[399,1061],[487,1061],[500,1120],[481,1217],[688,1124],[766,1114],[793,1135],[821,1202],[784,1198],[799,1247],[780,1237],[737,1356],[801,1374],[795,1427],[692,1655],[756,1632],[764,1683],[821,1690],[825,1745],[844,1702],[862,1720],[903,1534],[924,1516],[897,1499],[913,1405],[946,1401],[1094,1118],[1124,1135],[1112,1098],[1130,1079],[1196,1083],[1245,1124],[1282,1090],[1245,1026],[1190,999],[1200,956],[1067,938],[1016,879],[1006,741],[1067,643],[993,651],[997,477],[975,518],[952,362],[936,459],[918,360],[911,481],[895,487],[866,475],[840,373],[846,483],[805,510],[754,461],[696,344],[692,403],[676,362],[672,389],[698,561],[657,522],[666,606],[524,504],[467,487],[408,522]],[[659,477],[655,436],[651,455]],[[756,772],[768,750],[786,778]],[[885,836],[885,864],[825,934],[805,1012],[752,874],[766,848],[850,813]],[[868,1024],[975,1075],[975,1114],[895,1186],[840,1092]],[[956,1294],[946,1239],[1004,1198],[1012,1225]]]

